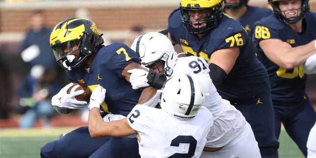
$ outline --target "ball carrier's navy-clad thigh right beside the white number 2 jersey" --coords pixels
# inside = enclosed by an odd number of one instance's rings
[[[140,158],[137,138],[112,137],[89,158]]]

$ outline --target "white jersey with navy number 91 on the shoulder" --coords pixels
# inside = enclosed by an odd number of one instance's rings
[[[221,98],[211,83],[209,72],[209,64],[203,58],[187,56],[178,58],[171,77],[179,74],[197,76],[204,92],[210,94],[206,96],[203,106],[211,111],[214,124],[208,134],[206,146],[216,148],[225,146],[240,136],[247,122],[239,110]]]

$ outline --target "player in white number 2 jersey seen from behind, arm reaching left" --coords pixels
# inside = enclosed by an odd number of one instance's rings
[[[106,90],[98,86],[89,104],[90,135],[102,138],[136,134],[141,158],[199,158],[213,124],[210,111],[202,107],[206,96],[203,89],[194,77],[179,75],[162,88],[161,109],[136,105],[126,118],[104,122],[100,105]]]

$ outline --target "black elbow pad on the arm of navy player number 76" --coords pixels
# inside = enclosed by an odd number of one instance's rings
[[[209,73],[210,77],[212,79],[213,84],[217,88],[223,83],[223,80],[227,77],[227,74],[222,68],[220,68],[216,64],[211,63],[209,65],[209,68],[210,68],[210,73]]]

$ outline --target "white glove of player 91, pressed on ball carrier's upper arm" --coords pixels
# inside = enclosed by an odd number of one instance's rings
[[[149,84],[148,79],[147,79],[147,75],[148,75],[148,71],[143,70],[143,69],[132,69],[127,71],[128,73],[131,73],[130,76],[130,82],[132,84],[132,88],[133,89],[138,89],[138,88],[142,88],[142,87],[148,87]]]

